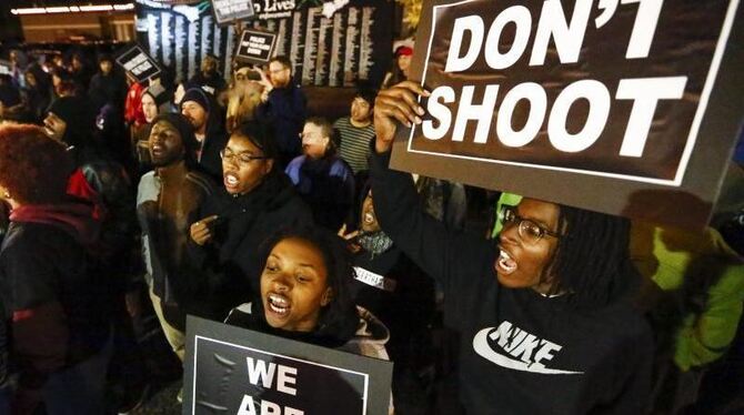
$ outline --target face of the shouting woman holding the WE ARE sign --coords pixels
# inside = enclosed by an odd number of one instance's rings
[[[288,237],[271,250],[261,273],[261,301],[270,326],[311,332],[331,296],[328,267],[318,247],[308,241]]]

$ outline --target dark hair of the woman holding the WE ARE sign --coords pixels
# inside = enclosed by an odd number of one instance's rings
[[[259,275],[267,266],[271,250],[288,239],[303,240],[321,252],[328,270],[325,282],[331,287],[332,297],[331,302],[321,308],[314,332],[319,337],[334,338],[340,343],[345,343],[356,333],[359,314],[352,294],[355,274],[344,241],[336,234],[319,226],[296,225],[284,227],[261,244],[259,249]],[[257,305],[261,315],[263,315],[262,302],[259,301]]]

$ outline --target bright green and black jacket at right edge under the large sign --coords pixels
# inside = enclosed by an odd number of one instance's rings
[[[653,281],[641,302],[657,325],[661,352],[682,371],[721,357],[742,316],[744,259],[713,229],[701,233],[644,222],[633,223],[631,254]]]

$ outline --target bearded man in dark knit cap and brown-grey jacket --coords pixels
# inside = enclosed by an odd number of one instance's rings
[[[154,170],[142,176],[137,192],[145,280],[165,337],[183,361],[184,302],[198,275],[185,253],[188,217],[212,193],[212,183],[194,171],[199,142],[183,115],[158,115],[148,145]]]

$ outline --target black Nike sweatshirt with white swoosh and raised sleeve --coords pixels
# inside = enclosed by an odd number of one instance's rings
[[[492,241],[448,231],[421,212],[410,174],[371,158],[382,229],[444,291],[459,335],[460,402],[469,414],[637,414],[650,393],[653,343],[617,298],[576,310],[566,296],[501,286]]]

